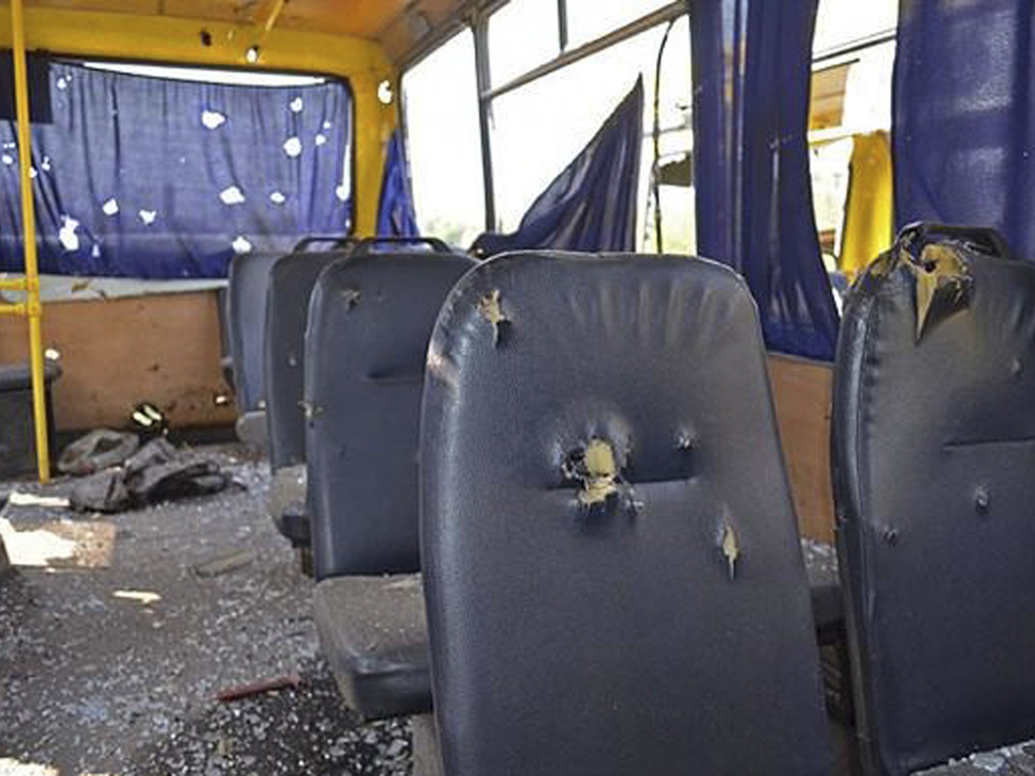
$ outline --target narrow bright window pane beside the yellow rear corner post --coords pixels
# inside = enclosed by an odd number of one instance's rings
[[[403,77],[421,233],[469,245],[484,231],[474,39],[461,32]]]

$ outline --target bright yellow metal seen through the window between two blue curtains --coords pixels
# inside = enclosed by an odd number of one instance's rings
[[[840,269],[854,277],[894,239],[891,147],[886,131],[853,139]]]

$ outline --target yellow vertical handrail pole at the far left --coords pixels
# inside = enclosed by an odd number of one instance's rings
[[[32,371],[32,417],[36,428],[36,467],[39,481],[51,477],[51,456],[47,435],[47,398],[43,384],[43,338],[40,331],[39,265],[36,260],[36,217],[29,176],[29,79],[25,55],[23,0],[10,0],[10,28],[14,60],[14,105],[18,113],[18,158],[22,175],[22,241],[25,244],[26,314],[29,319],[29,365]]]

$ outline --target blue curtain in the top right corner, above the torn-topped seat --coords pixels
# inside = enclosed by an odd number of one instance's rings
[[[900,0],[895,218],[995,227],[1035,260],[1035,3]]]

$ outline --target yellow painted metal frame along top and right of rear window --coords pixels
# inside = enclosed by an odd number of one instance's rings
[[[385,80],[394,83],[397,78],[377,42],[280,26],[263,38],[263,27],[253,24],[65,8],[29,7],[25,21],[29,51],[347,79],[355,99],[355,228],[360,236],[374,234],[385,153],[396,120],[395,106],[378,99],[378,84]],[[203,36],[202,31],[208,35]],[[249,64],[245,53],[260,39],[261,57]],[[10,30],[0,26],[0,47],[10,44]]]

